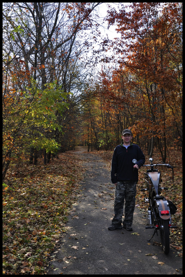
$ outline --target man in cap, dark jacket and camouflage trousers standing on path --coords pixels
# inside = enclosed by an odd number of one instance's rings
[[[132,231],[138,169],[144,165],[145,156],[137,144],[132,144],[131,130],[123,130],[121,137],[123,141],[115,147],[111,164],[111,181],[115,184],[115,215],[112,219],[112,225],[108,229],[115,230],[122,228],[121,223],[125,200],[123,228],[127,231]]]

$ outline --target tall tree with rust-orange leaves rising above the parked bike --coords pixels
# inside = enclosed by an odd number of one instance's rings
[[[112,44],[115,52],[121,54],[118,75],[123,72],[130,91],[136,97],[144,97],[149,108],[147,117],[142,114],[130,127],[140,137],[146,134],[152,141],[157,137],[165,162],[167,139],[182,139],[181,4],[132,3],[127,7],[121,4],[119,12],[110,9],[108,13],[109,24],[116,23],[116,30],[121,33],[121,39]],[[136,103],[130,99],[129,106],[132,104]],[[171,130],[178,134],[176,138]]]

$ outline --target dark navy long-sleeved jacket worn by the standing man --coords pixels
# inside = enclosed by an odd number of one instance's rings
[[[117,181],[138,181],[138,169],[133,171],[134,163],[133,159],[136,159],[136,164],[139,168],[145,163],[145,156],[137,144],[124,147],[123,142],[116,146],[112,157],[111,164],[111,181],[117,183]]]

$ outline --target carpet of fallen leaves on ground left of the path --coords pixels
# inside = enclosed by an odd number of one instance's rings
[[[3,184],[3,274],[46,274],[69,228],[67,215],[86,170],[81,163],[67,151],[47,165],[10,167]]]

